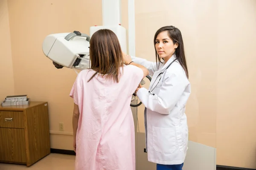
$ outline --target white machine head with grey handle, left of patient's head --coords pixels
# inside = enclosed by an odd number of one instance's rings
[[[43,42],[44,55],[52,60],[56,68],[90,67],[90,36],[79,31],[48,35]]]

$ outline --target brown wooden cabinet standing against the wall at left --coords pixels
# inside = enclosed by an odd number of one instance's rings
[[[0,106],[0,162],[30,166],[49,153],[47,102]]]

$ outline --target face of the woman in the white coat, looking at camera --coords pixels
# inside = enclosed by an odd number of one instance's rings
[[[167,31],[160,32],[157,35],[155,43],[157,54],[160,58],[164,58],[165,62],[172,57],[178,46],[177,43],[173,44],[173,41],[169,37]]]

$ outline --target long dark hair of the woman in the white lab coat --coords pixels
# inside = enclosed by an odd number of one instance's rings
[[[178,47],[175,50],[175,55],[177,57],[177,60],[179,61],[180,65],[183,67],[186,77],[189,78],[189,71],[187,68],[186,64],[186,57],[185,57],[185,51],[184,51],[184,44],[183,44],[183,39],[181,32],[178,28],[175,28],[174,26],[164,26],[157,30],[155,36],[154,36],[154,48],[155,48],[155,53],[156,53],[156,62],[157,62],[157,68],[159,68],[160,63],[163,63],[161,61],[161,58],[157,54],[157,49],[156,49],[156,39],[157,35],[163,31],[167,31],[169,37],[172,39],[173,44],[177,43]]]

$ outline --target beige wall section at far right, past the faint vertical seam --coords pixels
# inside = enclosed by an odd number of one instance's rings
[[[217,162],[256,169],[256,1],[219,0]]]

